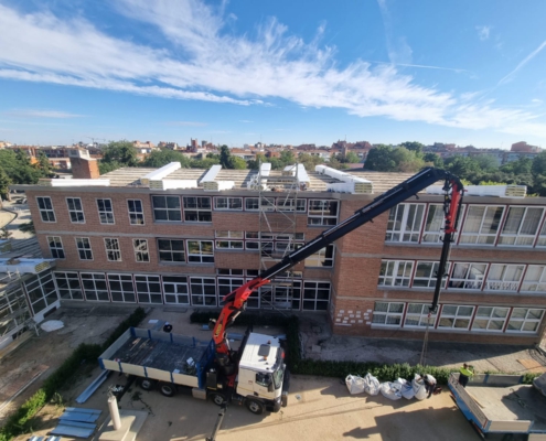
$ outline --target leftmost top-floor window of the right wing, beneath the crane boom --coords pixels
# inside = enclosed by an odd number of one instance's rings
[[[398,204],[388,213],[386,241],[419,241],[425,204]]]

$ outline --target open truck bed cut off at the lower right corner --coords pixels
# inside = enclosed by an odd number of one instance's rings
[[[546,397],[520,375],[477,374],[467,387],[449,377],[451,398],[482,438],[546,441]]]

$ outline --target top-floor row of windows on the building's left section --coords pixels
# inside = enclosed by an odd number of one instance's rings
[[[244,200],[244,205],[243,205]],[[53,202],[49,196],[36,197],[42,222],[56,222]],[[216,211],[259,209],[272,212],[308,213],[307,200],[263,198],[259,197],[214,197]],[[97,212],[100,224],[114,225],[116,216],[110,198],[97,198]],[[85,213],[81,197],[66,197],[68,217],[74,224],[85,224]],[[210,196],[151,196],[151,207],[154,222],[212,222],[212,197]],[[338,223],[338,201],[309,200],[309,225],[335,225]],[[130,225],[144,225],[144,212],[141,200],[127,200],[127,211]]]

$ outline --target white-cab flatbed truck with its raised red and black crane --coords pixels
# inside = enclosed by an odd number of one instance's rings
[[[256,278],[226,294],[217,320],[212,321],[211,342],[193,337],[132,329],[119,337],[100,357],[104,369],[138,378],[143,389],[158,387],[165,396],[178,388],[191,388],[196,398],[212,399],[216,405],[245,405],[253,413],[279,411],[288,402],[289,372],[278,338],[247,331],[238,349],[229,345],[227,329],[246,309],[253,292],[269,283],[275,276],[389,211],[400,202],[443,181],[445,234],[439,270],[430,312],[436,312],[446,275],[449,249],[457,232],[464,187],[451,173],[425,168],[416,175],[374,198],[338,225],[322,232]]]

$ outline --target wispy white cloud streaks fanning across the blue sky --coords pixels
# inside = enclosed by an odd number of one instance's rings
[[[390,25],[385,0],[378,1]],[[250,37],[224,32],[233,22],[225,2],[217,9],[197,0],[122,0],[116,6],[129,20],[142,22],[135,29],[161,32],[171,49],[120,40],[79,15],[61,20],[0,4],[0,29],[18,30],[0,33],[0,78],[244,106],[270,106],[270,99],[280,98],[301,108],[340,108],[360,117],[542,132],[528,111],[496,108],[472,93],[456,96],[420,86],[394,65],[356,60],[341,68],[335,49],[321,45],[323,25],[304,42],[269,19]],[[407,43],[388,39],[392,62],[411,64]]]

